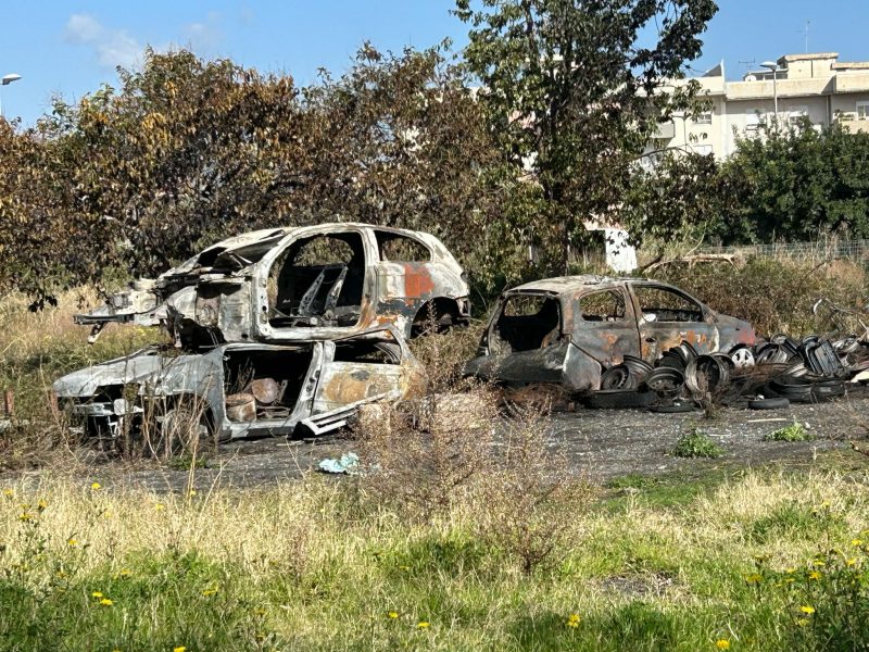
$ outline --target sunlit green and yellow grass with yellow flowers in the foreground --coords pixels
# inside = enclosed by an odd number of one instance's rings
[[[554,562],[528,573],[474,486],[408,518],[365,477],[8,481],[0,649],[861,649],[866,482],[759,471],[593,510],[584,490],[579,511],[558,502]]]

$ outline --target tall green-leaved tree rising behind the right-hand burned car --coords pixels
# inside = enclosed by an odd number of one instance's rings
[[[583,221],[620,217],[657,125],[693,108],[695,85],[664,92],[701,52],[713,0],[457,0],[480,100],[516,174],[537,193],[515,228],[566,267]]]

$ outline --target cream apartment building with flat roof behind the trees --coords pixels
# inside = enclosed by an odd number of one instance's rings
[[[816,128],[841,122],[847,129],[869,131],[869,62],[840,62],[837,53],[821,52],[785,54],[777,66],[728,82],[721,62],[696,77],[709,110],[695,117],[677,114],[662,124],[650,151],[679,148],[726,159],[736,138],[756,131],[776,115],[777,105],[780,121],[807,116]]]

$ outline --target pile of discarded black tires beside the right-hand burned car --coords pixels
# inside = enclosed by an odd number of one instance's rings
[[[688,341],[655,362],[626,355],[604,371],[601,389],[585,405],[596,409],[643,408],[691,412],[708,404],[744,404],[778,410],[842,397],[848,385],[869,379],[869,342],[857,336],[809,336],[796,340],[774,335],[728,352],[698,354]]]

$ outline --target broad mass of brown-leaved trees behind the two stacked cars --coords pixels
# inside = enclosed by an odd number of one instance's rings
[[[308,87],[149,51],[28,131],[0,121],[0,289],[46,297],[109,267],[152,275],[260,227],[358,220],[425,228],[468,259],[499,217],[498,150],[441,50],[361,49]],[[503,242],[498,242],[503,249]]]

